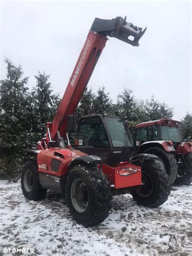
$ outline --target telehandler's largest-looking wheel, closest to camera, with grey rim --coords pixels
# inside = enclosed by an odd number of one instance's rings
[[[85,227],[103,222],[111,209],[110,189],[107,176],[96,166],[74,166],[66,181],[66,201],[73,219]]]

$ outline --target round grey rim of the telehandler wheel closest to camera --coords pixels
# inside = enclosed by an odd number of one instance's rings
[[[73,181],[70,198],[73,207],[79,213],[83,213],[87,209],[89,197],[85,182],[82,179],[75,179]]]

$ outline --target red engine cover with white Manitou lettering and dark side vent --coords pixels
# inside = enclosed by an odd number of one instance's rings
[[[54,156],[54,152],[58,152],[62,154],[64,158],[59,156]],[[87,156],[87,154],[75,149],[60,149],[60,148],[53,148],[53,147],[50,149],[42,150],[37,155],[38,171],[42,173],[56,175],[56,176],[65,175],[68,171],[68,165],[77,156]],[[57,172],[51,171],[52,159],[57,159],[62,162]]]

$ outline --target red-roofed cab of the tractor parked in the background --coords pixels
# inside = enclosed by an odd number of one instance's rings
[[[171,141],[176,147],[182,141],[180,123],[172,119],[160,119],[137,124],[135,144],[139,147],[147,141]]]

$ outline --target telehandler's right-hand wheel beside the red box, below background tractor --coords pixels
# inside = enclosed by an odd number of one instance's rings
[[[140,162],[134,164],[141,166]],[[153,158],[143,162],[142,183],[142,186],[131,192],[133,200],[139,205],[154,208],[168,199],[169,177],[161,159]]]

